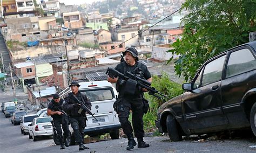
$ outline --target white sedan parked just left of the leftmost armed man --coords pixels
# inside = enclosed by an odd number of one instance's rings
[[[39,136],[52,136],[51,117],[36,117],[29,124],[29,138],[37,141]]]

